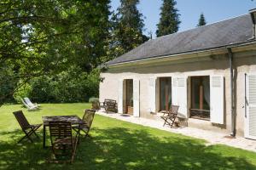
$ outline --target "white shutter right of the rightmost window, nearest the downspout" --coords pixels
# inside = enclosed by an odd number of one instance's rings
[[[210,120],[213,123],[224,124],[224,77],[210,77]]]

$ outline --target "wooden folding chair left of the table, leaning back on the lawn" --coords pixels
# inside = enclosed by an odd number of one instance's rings
[[[27,122],[27,120],[26,120],[26,116],[24,116],[22,111],[15,111],[14,115],[15,115],[17,121],[19,122],[22,131],[25,133],[25,136],[23,138],[21,138],[18,141],[18,143],[20,143],[20,141],[25,139],[25,138],[27,138],[31,142],[33,142],[32,138],[31,138],[31,135],[35,134],[38,137],[38,134],[36,133],[36,130],[38,130],[38,128],[41,127],[42,124],[34,124],[34,125],[29,124],[29,122]]]

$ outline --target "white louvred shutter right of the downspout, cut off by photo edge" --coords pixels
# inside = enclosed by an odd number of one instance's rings
[[[246,75],[245,137],[256,139],[256,74]]]

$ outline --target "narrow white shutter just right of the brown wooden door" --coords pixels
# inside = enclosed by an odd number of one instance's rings
[[[140,116],[140,81],[133,79],[133,116]]]

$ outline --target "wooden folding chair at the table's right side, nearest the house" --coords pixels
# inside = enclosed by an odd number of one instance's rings
[[[85,133],[85,137],[90,137],[89,132],[90,132],[90,127],[93,122],[94,116],[95,116],[96,110],[90,110],[87,109],[84,111],[84,116],[83,116],[83,122],[84,124],[80,125],[75,125],[73,126],[73,130],[79,133],[79,139],[80,139],[80,132]]]

